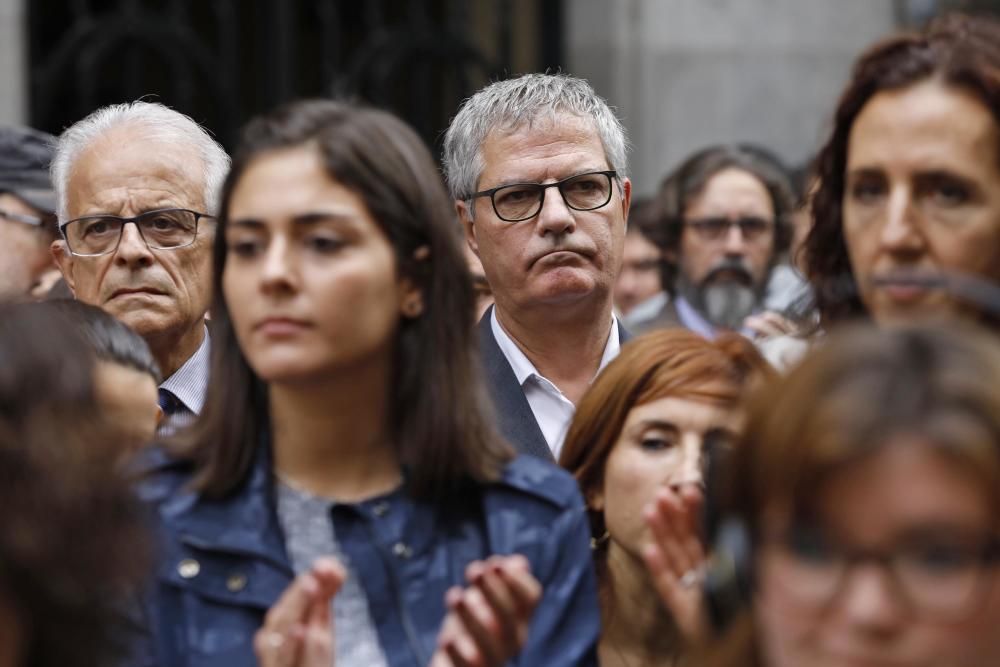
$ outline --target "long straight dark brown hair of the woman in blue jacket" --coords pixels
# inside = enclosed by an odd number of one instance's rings
[[[390,113],[311,100],[251,121],[223,187],[213,251],[212,382],[200,419],[175,443],[195,465],[193,487],[210,497],[234,491],[269,430],[267,386],[237,344],[222,292],[226,227],[247,167],[296,146],[314,146],[329,177],[361,198],[395,251],[398,275],[423,294],[421,315],[400,321],[389,383],[389,435],[409,492],[440,500],[470,482],[496,479],[512,450],[492,426],[468,326],[475,295],[461,228],[434,159]]]

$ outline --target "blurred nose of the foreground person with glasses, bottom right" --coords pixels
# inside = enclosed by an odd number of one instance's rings
[[[846,574],[841,596],[841,613],[854,631],[891,634],[905,620],[905,609],[881,564],[856,564]]]

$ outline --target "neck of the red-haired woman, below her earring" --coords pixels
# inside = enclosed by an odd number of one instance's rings
[[[641,560],[614,540],[608,544],[608,579],[601,652],[621,665],[671,665],[677,651],[673,623]],[[602,664],[604,664],[602,662]]]

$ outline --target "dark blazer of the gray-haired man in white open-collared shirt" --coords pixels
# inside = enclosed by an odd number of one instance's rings
[[[489,387],[493,406],[497,413],[500,433],[522,454],[530,454],[548,461],[553,460],[552,450],[545,442],[542,429],[535,421],[524,389],[517,383],[514,369],[493,336],[490,318],[493,306],[479,320],[479,354],[482,358],[486,385]],[[632,336],[618,323],[618,339],[625,343]]]

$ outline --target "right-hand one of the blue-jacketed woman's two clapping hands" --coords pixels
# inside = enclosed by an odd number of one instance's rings
[[[430,667],[500,667],[517,655],[542,596],[524,556],[491,556],[465,570],[445,596],[448,615]]]

